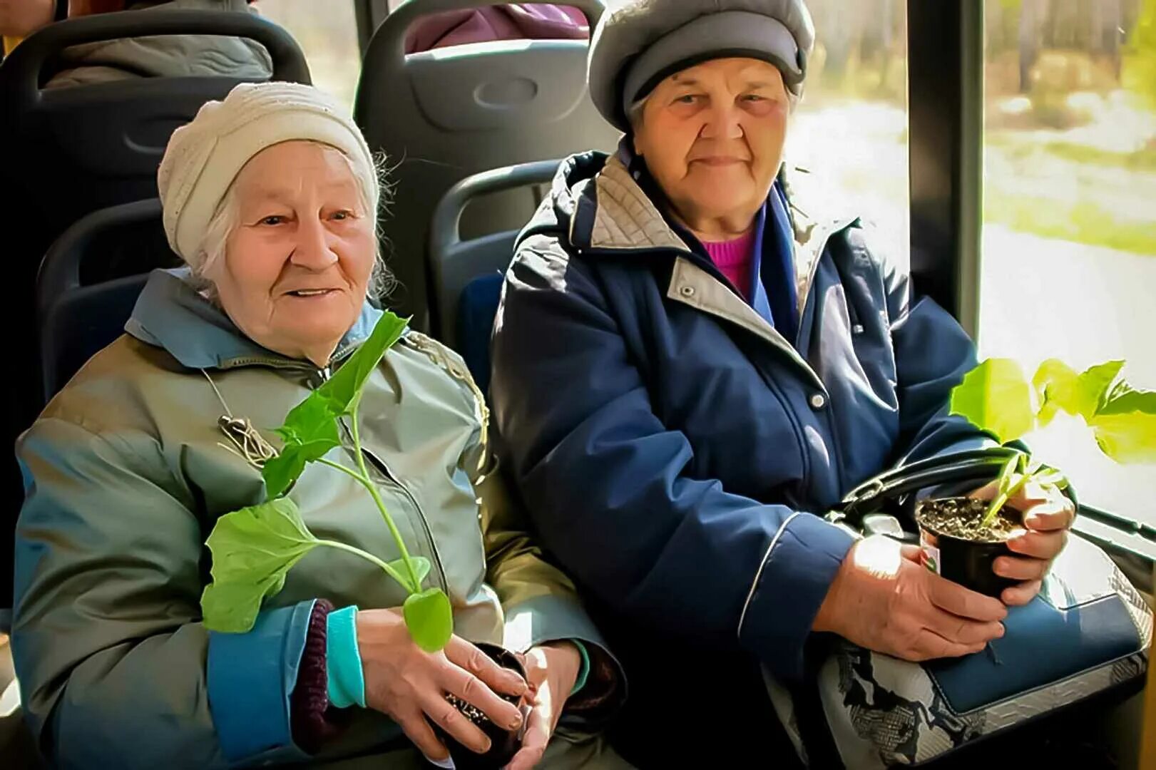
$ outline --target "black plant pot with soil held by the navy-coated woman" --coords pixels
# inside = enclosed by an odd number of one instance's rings
[[[984,501],[941,497],[920,501],[916,508],[924,567],[953,583],[999,598],[1018,580],[1000,577],[993,565],[1010,556],[1007,538],[1021,526],[1020,512],[1003,506],[992,527],[981,527]]]

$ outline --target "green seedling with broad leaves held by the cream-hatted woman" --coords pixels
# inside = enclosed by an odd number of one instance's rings
[[[201,595],[205,625],[214,631],[244,634],[253,628],[261,602],[284,587],[286,575],[314,548],[335,548],[355,554],[405,588],[406,628],[427,652],[442,650],[453,632],[450,599],[438,587],[422,588],[430,562],[410,556],[401,533],[365,467],[357,429],[357,406],[370,373],[385,351],[401,338],[406,320],[386,312],[370,338],[320,387],[294,407],[274,432],[284,442],[280,452],[261,466],[267,499],[217,519],[206,542],[213,554],[213,582]],[[356,466],[348,467],[326,456],[341,446],[340,427],[348,419]],[[393,535],[401,558],[385,562],[360,548],[323,540],[305,526],[289,489],[311,462],[350,476],[372,497]]]

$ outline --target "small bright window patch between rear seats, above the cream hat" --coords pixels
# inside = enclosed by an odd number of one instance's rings
[[[353,110],[361,53],[357,18],[350,0],[260,0],[261,15],[294,36],[309,60],[313,84]]]

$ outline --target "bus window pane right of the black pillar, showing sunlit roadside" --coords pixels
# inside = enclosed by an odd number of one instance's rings
[[[986,0],[979,346],[1029,372],[1125,358],[1156,386],[1156,0]],[[1081,502],[1156,523],[1151,466],[1060,421],[1030,437]]]

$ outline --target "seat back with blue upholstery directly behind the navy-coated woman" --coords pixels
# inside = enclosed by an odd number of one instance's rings
[[[451,187],[433,212],[428,261],[431,331],[461,354],[483,393],[490,380],[490,331],[503,274],[521,224],[462,240],[462,215],[483,195],[549,184],[558,164],[538,161],[475,173]]]

